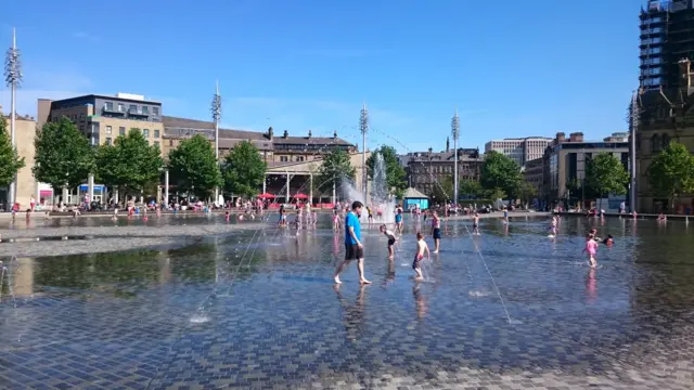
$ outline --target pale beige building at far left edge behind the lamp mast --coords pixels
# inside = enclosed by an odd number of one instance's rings
[[[2,113],[2,105],[0,105],[0,120],[4,120],[5,129],[10,133],[10,116]],[[16,203],[18,203],[23,210],[29,207],[31,195],[34,195],[37,203],[40,200],[39,183],[34,179],[31,168],[34,168],[34,139],[36,138],[36,121],[33,117],[25,115],[15,116],[15,142],[17,147],[17,155],[24,157],[24,168],[17,172],[17,188],[16,188]],[[9,210],[11,205],[8,205],[9,188],[0,186],[0,209]]]

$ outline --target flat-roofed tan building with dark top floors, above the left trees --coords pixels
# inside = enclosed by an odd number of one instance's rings
[[[164,132],[162,103],[130,93],[89,94],[59,101],[39,99],[37,113],[39,127],[61,117],[69,118],[92,145],[110,144],[132,128],[140,129],[150,144],[158,145]]]

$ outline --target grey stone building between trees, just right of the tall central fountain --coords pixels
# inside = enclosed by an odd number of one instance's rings
[[[454,151],[412,152],[403,155],[407,160],[408,180],[411,187],[426,195],[434,195],[435,190],[445,179],[452,179],[455,167]],[[463,181],[479,181],[481,166],[485,162],[484,155],[478,148],[458,150],[458,178]],[[444,202],[446,199],[433,199]]]

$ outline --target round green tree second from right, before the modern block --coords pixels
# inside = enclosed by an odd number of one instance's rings
[[[588,162],[586,186],[592,188],[601,199],[609,193],[626,194],[627,183],[629,173],[612,153],[601,153]],[[599,208],[602,208],[602,205],[599,205]]]

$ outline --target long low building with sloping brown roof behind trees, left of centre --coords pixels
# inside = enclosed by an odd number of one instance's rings
[[[211,121],[165,116],[163,122],[164,156],[168,156],[182,140],[195,134],[203,134],[210,143],[215,143],[215,123]],[[270,167],[320,159],[333,147],[343,148],[348,153],[357,152],[356,145],[337,138],[337,131],[333,132],[333,136],[313,136],[311,130],[306,136],[290,136],[288,130],[284,130],[282,135],[277,136],[272,128],[267,132],[219,129],[220,158],[242,141],[253,143]]]

